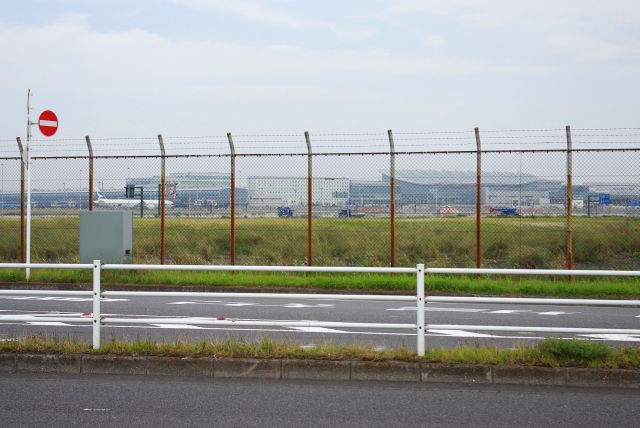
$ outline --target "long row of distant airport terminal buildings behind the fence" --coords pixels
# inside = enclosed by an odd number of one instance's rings
[[[516,173],[484,173],[481,203],[486,208],[519,208],[523,213],[560,214],[566,205],[567,188],[563,179],[548,179]],[[229,173],[170,173],[166,177],[166,197],[174,208],[228,208],[231,204]],[[128,178],[126,184],[144,187],[145,199],[158,197],[159,176]],[[412,212],[430,213],[441,207],[455,207],[460,213],[472,212],[476,202],[475,171],[398,170],[395,178],[396,207],[412,207]],[[109,198],[124,197],[121,189],[101,189]],[[86,191],[38,191],[34,189],[36,208],[86,208]],[[573,186],[574,214],[592,214],[589,204],[598,204],[598,195],[606,195],[610,207],[640,207],[637,184],[593,183]],[[314,177],[313,203],[324,207],[389,206],[390,178],[380,171],[378,180],[351,180],[346,177]],[[3,209],[19,208],[19,194],[0,197]],[[237,182],[236,205],[239,208],[268,209],[279,206],[303,207],[307,204],[306,177],[250,176]],[[599,203],[602,205],[602,203]],[[609,210],[611,211],[611,209]],[[604,211],[598,211],[604,213]],[[613,211],[611,211],[613,213]]]

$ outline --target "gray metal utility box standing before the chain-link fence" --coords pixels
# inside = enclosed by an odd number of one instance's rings
[[[80,263],[131,263],[132,253],[131,211],[80,212]]]

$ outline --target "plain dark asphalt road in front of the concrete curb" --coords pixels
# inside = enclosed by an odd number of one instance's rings
[[[637,427],[640,392],[0,374],[3,426]]]

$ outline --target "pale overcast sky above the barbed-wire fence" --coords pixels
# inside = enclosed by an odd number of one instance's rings
[[[634,0],[0,3],[0,138],[638,126]]]

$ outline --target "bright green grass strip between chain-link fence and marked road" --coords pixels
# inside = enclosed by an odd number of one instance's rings
[[[0,270],[0,281],[21,282],[24,272]],[[89,284],[90,271],[33,269],[31,282]],[[303,289],[309,291],[362,291],[412,294],[415,276],[388,274],[320,274],[186,271],[103,271],[102,284],[199,286],[216,288]],[[640,279],[605,278],[526,278],[431,275],[426,278],[427,294],[489,296],[555,296],[593,298],[638,298]]]

